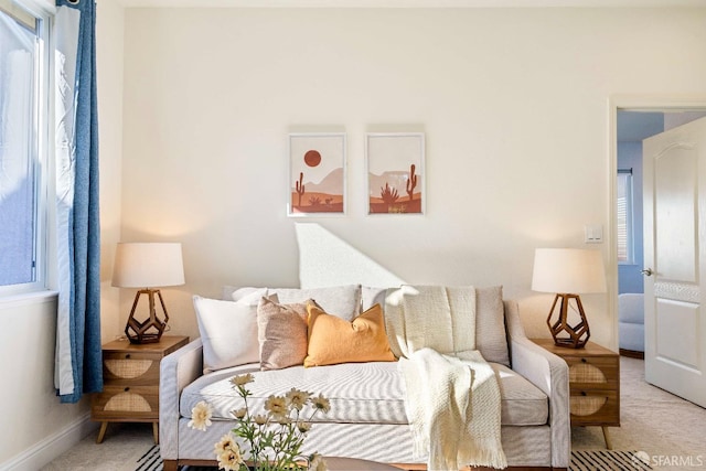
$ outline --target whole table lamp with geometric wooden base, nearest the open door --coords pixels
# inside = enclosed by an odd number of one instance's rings
[[[606,291],[601,253],[579,248],[537,248],[532,289],[557,293],[547,317],[554,343],[574,349],[585,346],[591,333],[579,293]],[[559,310],[555,317],[557,302]],[[569,320],[569,309],[578,314],[576,322]],[[573,318],[575,320],[576,315]]]

